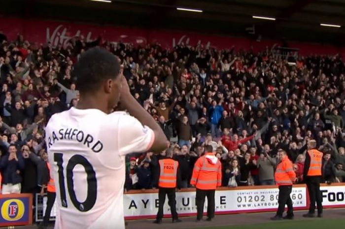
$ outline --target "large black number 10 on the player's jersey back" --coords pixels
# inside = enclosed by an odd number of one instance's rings
[[[67,190],[69,193],[69,198],[73,203],[74,207],[81,212],[87,212],[91,210],[95,205],[97,199],[97,179],[96,172],[90,164],[90,162],[81,155],[73,155],[69,159],[66,168],[64,168],[62,153],[54,153],[54,161],[57,163],[58,166],[59,189],[62,206],[68,207],[64,175],[64,169],[66,169]],[[84,202],[79,202],[74,192],[73,169],[77,164],[80,164],[84,167],[87,175],[87,195]]]

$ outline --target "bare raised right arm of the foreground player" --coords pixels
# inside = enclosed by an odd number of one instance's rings
[[[121,75],[121,77],[121,107],[126,109],[132,116],[136,117],[142,125],[149,127],[154,132],[154,141],[149,151],[159,153],[165,150],[168,147],[168,139],[162,128],[131,95],[126,78],[123,75]]]

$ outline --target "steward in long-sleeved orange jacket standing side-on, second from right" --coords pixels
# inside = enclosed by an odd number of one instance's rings
[[[292,192],[292,184],[296,181],[296,173],[293,170],[292,162],[289,160],[284,150],[278,151],[278,157],[280,163],[276,166],[275,179],[276,184],[279,186],[279,205],[276,216],[272,217],[271,220],[292,220],[294,214],[290,194]],[[287,205],[287,215],[283,218],[285,204]]]

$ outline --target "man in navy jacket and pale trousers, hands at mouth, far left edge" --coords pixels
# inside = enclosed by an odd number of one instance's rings
[[[21,191],[21,170],[24,169],[24,160],[14,144],[9,145],[8,154],[0,161],[2,171],[1,194],[18,194]]]

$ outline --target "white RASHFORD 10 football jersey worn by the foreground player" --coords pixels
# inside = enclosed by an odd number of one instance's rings
[[[55,181],[55,229],[124,229],[125,156],[150,149],[154,132],[125,112],[72,107],[46,127]]]

